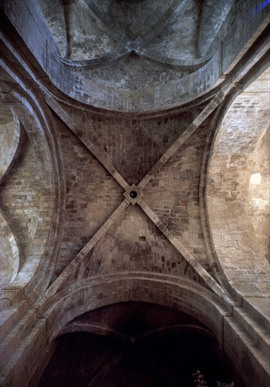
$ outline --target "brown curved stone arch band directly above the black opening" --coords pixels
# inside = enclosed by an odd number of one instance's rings
[[[172,307],[194,317],[220,341],[221,320],[231,312],[211,291],[192,281],[169,276],[138,273],[111,275],[79,281],[39,303],[39,317],[47,319],[50,341],[75,317],[86,312],[127,301],[142,301]]]

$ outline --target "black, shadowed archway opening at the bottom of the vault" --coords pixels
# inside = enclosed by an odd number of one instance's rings
[[[69,322],[39,387],[195,386],[200,369],[210,386],[245,386],[206,326],[173,308],[129,301]]]

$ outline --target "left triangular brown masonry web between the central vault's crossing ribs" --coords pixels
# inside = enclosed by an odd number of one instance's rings
[[[122,201],[122,188],[75,137],[58,126],[65,163],[65,220],[56,266],[59,275]]]

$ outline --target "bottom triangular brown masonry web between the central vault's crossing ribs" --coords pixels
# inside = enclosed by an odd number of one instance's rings
[[[110,227],[86,257],[83,277],[113,272],[159,272],[200,281],[195,270],[162,236],[138,207],[131,207]]]

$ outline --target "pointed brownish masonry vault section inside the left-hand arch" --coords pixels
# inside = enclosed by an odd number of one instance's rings
[[[26,137],[20,157],[4,177],[0,205],[20,251],[20,269],[43,253],[52,221],[50,171],[45,171]],[[1,238],[5,239],[4,229]]]

